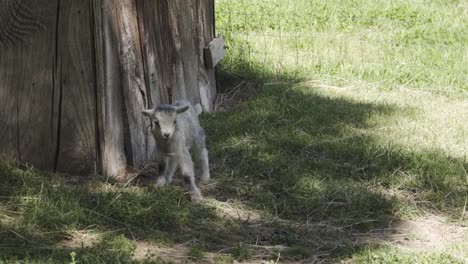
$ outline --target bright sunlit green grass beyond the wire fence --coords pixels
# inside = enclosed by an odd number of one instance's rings
[[[218,0],[217,7],[228,72],[466,96],[464,1]]]

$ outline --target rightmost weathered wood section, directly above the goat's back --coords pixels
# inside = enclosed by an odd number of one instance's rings
[[[212,4],[203,0],[190,1],[190,4],[183,0],[169,3],[169,30],[173,32],[175,49],[173,100],[186,98],[201,103],[204,111],[212,110],[216,90],[214,71],[205,70],[203,58],[203,48],[207,44],[205,34],[212,38],[213,25],[204,23],[212,19]]]

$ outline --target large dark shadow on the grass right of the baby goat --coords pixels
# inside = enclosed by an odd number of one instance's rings
[[[294,76],[256,77],[255,67],[240,68],[247,71],[224,72],[221,80],[237,87],[247,79],[261,91],[233,111],[206,117],[219,177],[212,195],[262,211],[263,224],[288,234],[261,243],[290,246],[299,258],[342,257],[375,244],[362,234],[398,225],[404,210],[450,218],[463,207],[466,161],[384,146],[363,133],[375,129],[376,117],[409,116],[415,109],[331,97],[302,87]],[[380,235],[377,244],[391,241]]]

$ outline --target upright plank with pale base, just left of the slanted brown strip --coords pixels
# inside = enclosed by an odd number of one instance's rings
[[[93,1],[99,173],[118,176],[125,171],[122,91],[117,25],[112,0]]]

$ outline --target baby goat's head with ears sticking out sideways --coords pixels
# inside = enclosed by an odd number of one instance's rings
[[[150,118],[153,131],[163,139],[168,140],[174,134],[177,125],[177,115],[189,109],[189,106],[160,105],[153,109],[143,110],[143,115]]]

